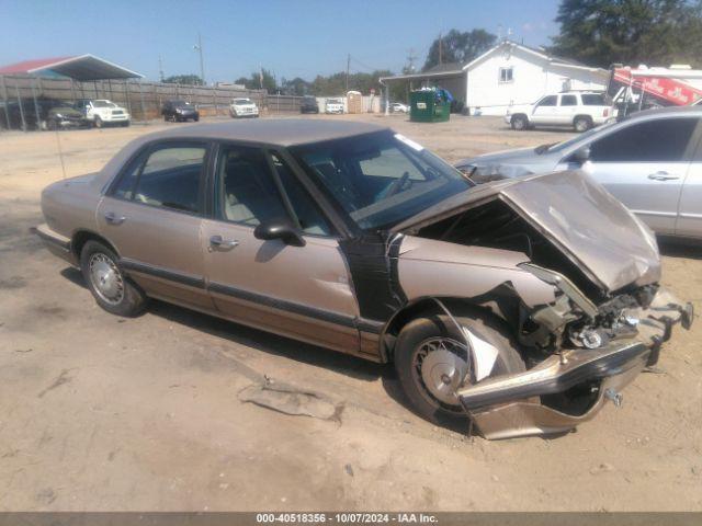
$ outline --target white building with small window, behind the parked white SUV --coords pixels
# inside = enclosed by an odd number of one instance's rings
[[[463,67],[471,115],[505,115],[512,104],[531,104],[564,90],[607,89],[609,71],[548,55],[511,41]]]

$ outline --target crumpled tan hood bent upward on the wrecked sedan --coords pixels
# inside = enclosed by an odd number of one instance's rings
[[[393,230],[414,232],[495,198],[507,203],[608,293],[660,278],[660,258],[650,230],[580,171],[486,183],[438,203]]]

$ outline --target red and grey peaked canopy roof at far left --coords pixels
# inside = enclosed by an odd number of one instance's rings
[[[0,75],[59,75],[79,81],[136,79],[144,77],[135,71],[90,54],[75,57],[25,60],[0,68]]]

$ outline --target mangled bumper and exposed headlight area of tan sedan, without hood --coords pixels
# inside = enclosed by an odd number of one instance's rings
[[[595,312],[586,305],[587,313],[565,290],[553,306],[532,315],[551,339],[561,340],[552,343],[550,355],[537,362],[532,357],[536,363],[524,373],[458,390],[486,438],[565,432],[592,419],[607,400],[620,405],[621,389],[657,363],[672,325],[689,329],[692,323],[692,305],[656,286],[619,296]]]

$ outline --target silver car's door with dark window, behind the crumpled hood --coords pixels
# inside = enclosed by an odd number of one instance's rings
[[[698,125],[687,116],[633,121],[593,140],[581,169],[656,232],[673,235]]]

